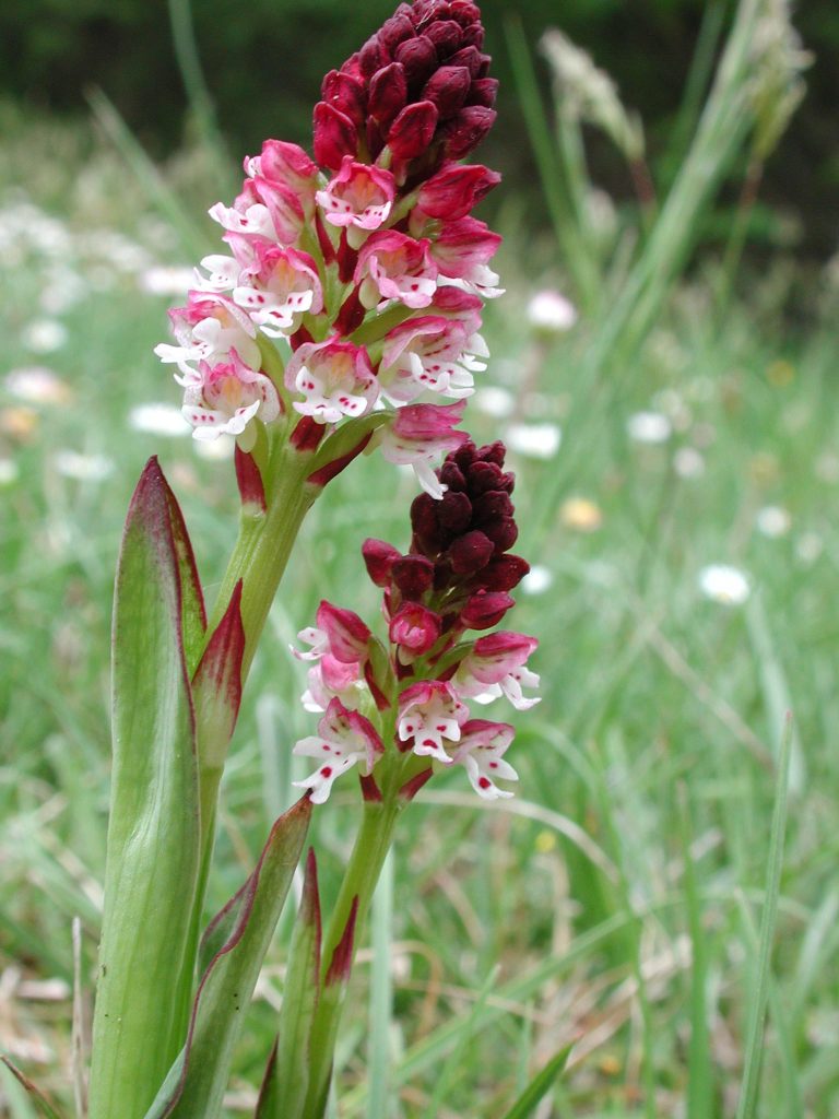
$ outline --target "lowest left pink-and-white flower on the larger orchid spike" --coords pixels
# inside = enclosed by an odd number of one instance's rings
[[[235,349],[229,361],[210,365],[178,378],[185,387],[181,412],[192,427],[194,439],[214,440],[219,435],[245,435],[247,425],[260,413],[264,423],[280,415],[280,398],[273,382],[239,358]],[[253,432],[242,440],[249,450]]]

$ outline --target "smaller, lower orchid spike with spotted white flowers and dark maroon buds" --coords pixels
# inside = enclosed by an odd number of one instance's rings
[[[414,502],[406,555],[383,540],[365,543],[368,574],[384,589],[386,648],[358,614],[326,601],[315,626],[299,634],[309,648],[295,656],[313,662],[303,704],[324,713],[318,734],[294,747],[318,760],[299,782],[315,803],[356,763],[369,796],[377,767],[408,752],[430,760],[426,777],[460,764],[479,796],[511,796],[496,782],[517,780],[503,758],[513,728],[473,718],[469,707],[501,696],[518,711],[538,703],[525,695],[539,683],[527,667],[535,638],[509,630],[468,637],[501,621],[513,605],[507,592],[528,570],[508,552],[516,538],[513,478],[502,468],[502,444],[464,444],[437,472],[439,481],[449,479],[442,498],[421,495]],[[433,528],[426,502],[440,518]]]

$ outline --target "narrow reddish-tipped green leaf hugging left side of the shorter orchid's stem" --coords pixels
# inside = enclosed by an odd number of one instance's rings
[[[299,1119],[309,1089],[312,1022],[320,996],[318,866],[310,848],[280,1012],[277,1044],[265,1071],[255,1119]]]

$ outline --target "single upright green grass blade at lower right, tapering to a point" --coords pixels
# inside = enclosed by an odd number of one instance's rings
[[[792,716],[786,716],[781,740],[781,755],[775,782],[775,802],[770,830],[769,862],[766,865],[766,901],[761,916],[760,942],[757,948],[757,976],[750,1007],[746,1050],[743,1064],[743,1080],[736,1119],[754,1119],[760,1087],[761,1059],[763,1055],[763,1025],[770,986],[772,938],[777,918],[777,895],[781,888],[783,867],[784,834],[786,829],[786,805],[789,798],[789,773],[792,756]]]

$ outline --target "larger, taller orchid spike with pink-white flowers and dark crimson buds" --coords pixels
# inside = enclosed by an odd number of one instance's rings
[[[465,438],[453,426],[489,356],[482,300],[500,294],[501,238],[471,216],[499,176],[458,162],[494,117],[482,41],[473,3],[403,3],[327,75],[314,160],[281,140],[245,160],[241,194],[209,211],[228,253],[201,261],[170,312],[177,345],[155,348],[197,439],[247,451],[254,423],[294,419],[292,445],[311,450],[312,424],[322,438],[381,412],[385,457],[444,491],[428,463]]]

